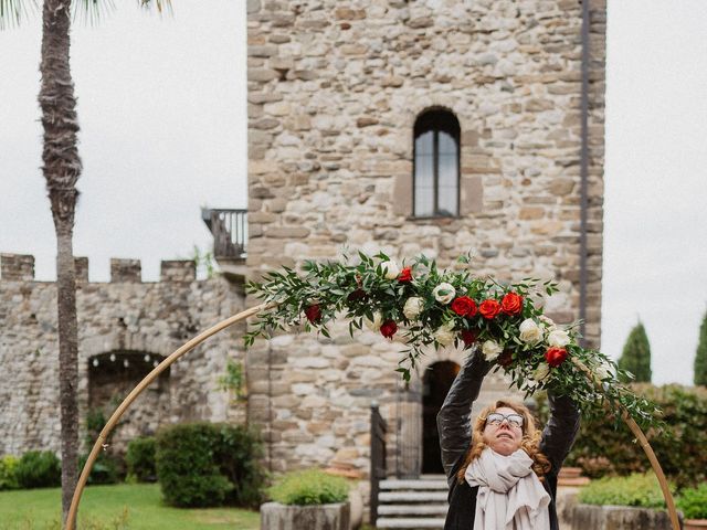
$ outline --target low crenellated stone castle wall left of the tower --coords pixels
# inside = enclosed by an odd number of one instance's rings
[[[156,283],[140,280],[138,261],[113,259],[110,283],[89,283],[85,258],[76,259],[76,269],[82,423],[89,404],[89,371],[101,385],[119,380],[126,360],[130,370],[147,373],[154,362],[243,308],[242,287],[223,278],[197,280],[193,262],[162,262]],[[59,454],[56,326],[55,284],[34,280],[32,256],[0,255],[0,455],[29,449]],[[127,439],[154,434],[167,422],[243,422],[244,406],[230,405],[217,381],[226,358],[242,359],[241,332],[226,330],[172,364],[169,375],[152,383],[128,410],[114,444],[124,449]],[[112,372],[103,377],[103,370]],[[116,390],[123,393],[108,403],[110,389],[93,390],[106,413],[125,396],[125,388]]]

